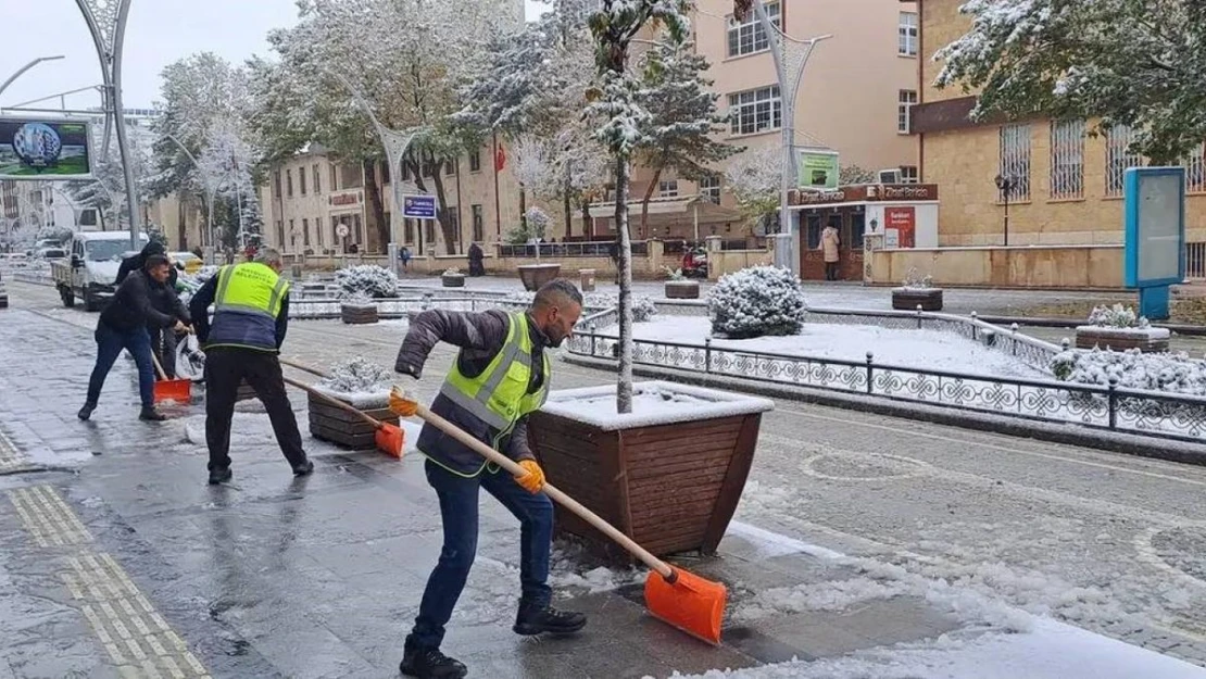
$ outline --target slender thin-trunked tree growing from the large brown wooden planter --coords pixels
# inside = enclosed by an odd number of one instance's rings
[[[620,251],[620,379],[616,411],[632,412],[632,239],[628,235],[628,177],[640,130],[652,118],[640,105],[639,78],[628,70],[633,39],[650,23],[665,27],[663,40],[686,39],[685,0],[601,0],[591,16],[599,88],[591,111],[602,119],[595,137],[615,164],[615,230]]]

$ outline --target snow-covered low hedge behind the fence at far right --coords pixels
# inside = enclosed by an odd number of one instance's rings
[[[1052,371],[1060,380],[1081,385],[1108,386],[1114,379],[1128,390],[1206,396],[1206,362],[1184,352],[1069,350],[1052,359]]]

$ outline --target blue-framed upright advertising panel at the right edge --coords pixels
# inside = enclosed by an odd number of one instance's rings
[[[1167,318],[1169,286],[1185,277],[1185,170],[1129,168],[1124,197],[1124,282],[1138,288],[1140,315]]]

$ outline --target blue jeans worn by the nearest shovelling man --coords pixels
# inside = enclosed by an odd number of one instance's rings
[[[461,598],[478,552],[479,486],[520,520],[520,605],[548,605],[552,598],[548,584],[552,501],[544,493],[525,491],[514,476],[502,469],[491,473],[487,468],[478,476],[466,479],[428,461],[426,470],[427,482],[440,498],[444,549],[427,580],[415,630],[408,640],[428,648],[439,648],[444,640],[444,626],[452,617],[452,609]]]

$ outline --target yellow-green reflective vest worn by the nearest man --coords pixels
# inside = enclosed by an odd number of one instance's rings
[[[444,397],[499,433],[509,432],[520,417],[539,410],[549,396],[548,355],[543,357],[544,380],[539,391],[527,393],[532,381],[532,336],[527,317],[522,312],[509,314],[507,326],[503,349],[480,375],[462,375],[458,357],[440,387]],[[508,376],[514,384],[504,385]]]

